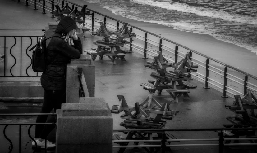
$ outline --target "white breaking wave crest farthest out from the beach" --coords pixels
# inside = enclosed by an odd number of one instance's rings
[[[252,17],[249,15],[241,15],[229,12],[212,9],[212,8],[205,8],[205,7],[195,7],[190,6],[188,4],[181,4],[179,2],[172,2],[172,1],[164,1],[164,0],[129,0],[131,2],[136,2],[138,4],[143,5],[150,5],[154,7],[160,7],[167,10],[174,10],[180,11],[185,13],[192,13],[200,16],[206,16],[211,18],[218,18],[233,22],[239,23],[247,23],[247,24],[257,24],[257,17]]]

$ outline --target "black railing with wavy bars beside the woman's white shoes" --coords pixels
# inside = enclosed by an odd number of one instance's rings
[[[44,116],[56,116],[57,114],[56,113],[24,113],[24,114],[0,114],[0,116],[39,116],[39,115],[44,115]],[[11,141],[11,139],[9,139],[6,135],[6,128],[9,126],[9,125],[19,125],[19,152],[21,153],[21,125],[30,125],[29,129],[28,129],[28,135],[30,137],[30,139],[32,141],[35,142],[35,148],[37,148],[37,142],[34,140],[33,137],[31,137],[30,135],[30,129],[33,125],[56,125],[56,123],[27,123],[27,122],[21,122],[21,123],[0,123],[0,125],[5,125],[4,129],[3,129],[3,135],[4,137],[10,142],[10,148],[9,148],[9,152],[8,153],[11,153],[13,151],[13,143]],[[47,152],[47,147],[46,147],[46,141],[45,141],[45,153]],[[35,149],[32,153],[36,152],[37,149]]]

